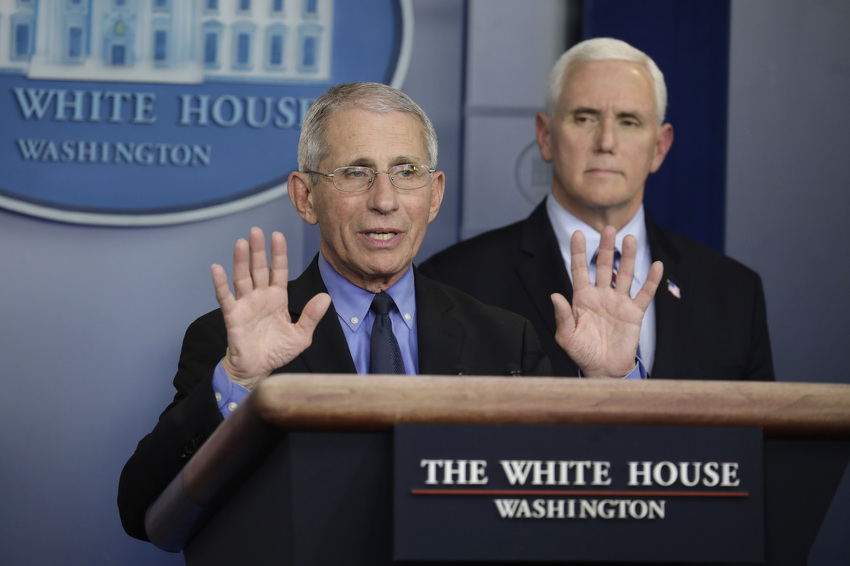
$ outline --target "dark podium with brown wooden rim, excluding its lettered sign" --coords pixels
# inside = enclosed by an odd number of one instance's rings
[[[148,535],[190,565],[393,564],[400,423],[761,427],[772,565],[806,562],[850,461],[850,385],[279,375],[151,506]]]

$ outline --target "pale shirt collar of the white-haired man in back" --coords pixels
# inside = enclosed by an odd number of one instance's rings
[[[593,254],[599,249],[599,242],[602,240],[602,234],[585,224],[567,209],[555,200],[555,197],[550,193],[546,197],[546,212],[549,214],[549,221],[552,223],[552,228],[555,230],[555,237],[558,239],[558,245],[561,248],[561,255],[564,257],[564,263],[567,266],[567,273],[572,281],[572,255],[570,254],[570,238],[573,232],[581,230],[586,241],[587,260],[593,257]],[[631,234],[635,237],[638,244],[637,257],[635,259],[635,280],[643,283],[649,272],[649,266],[652,264],[649,253],[649,242],[646,238],[646,219],[643,209],[643,204],[629,220],[623,228],[617,232],[614,245],[618,250],[623,250],[623,239],[626,235]]]

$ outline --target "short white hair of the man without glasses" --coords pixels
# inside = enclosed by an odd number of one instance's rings
[[[555,105],[561,98],[567,68],[573,63],[586,61],[631,61],[645,66],[655,86],[655,114],[658,125],[664,123],[664,115],[667,112],[667,85],[664,84],[664,74],[661,69],[640,49],[611,37],[596,37],[577,43],[555,62],[549,73],[549,87],[546,91],[546,114],[550,118],[554,116]]]

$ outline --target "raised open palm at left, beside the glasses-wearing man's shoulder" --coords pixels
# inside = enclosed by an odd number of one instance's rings
[[[286,365],[307,349],[313,331],[331,303],[327,293],[310,299],[298,322],[289,316],[286,285],[289,268],[286,239],[272,233],[271,267],[266,258],[263,231],[251,228],[250,242],[240,239],[233,249],[233,289],[221,265],[212,266],[215,297],[227,327],[227,354],[222,365],[227,375],[252,389],[273,370]]]

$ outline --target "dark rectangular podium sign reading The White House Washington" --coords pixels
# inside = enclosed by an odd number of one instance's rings
[[[758,428],[399,425],[396,560],[760,562]]]

